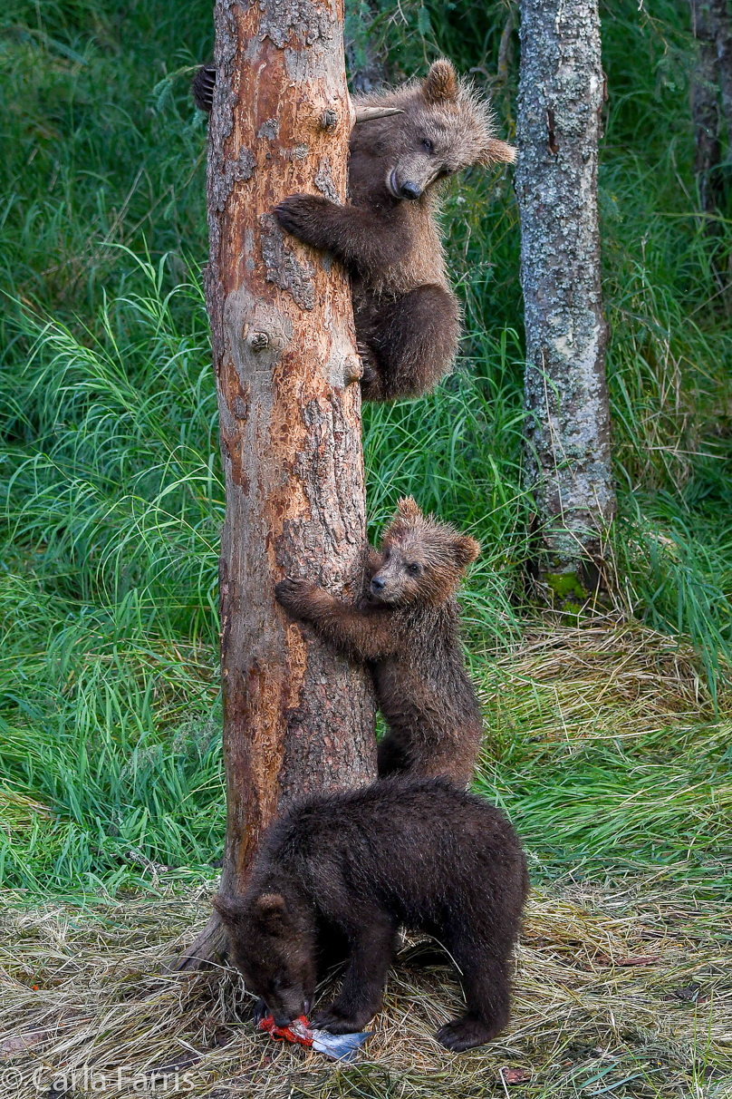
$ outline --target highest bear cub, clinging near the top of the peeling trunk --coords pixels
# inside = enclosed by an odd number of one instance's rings
[[[211,110],[215,69],[201,69],[196,103]],[[349,204],[292,195],[274,213],[289,233],[331,252],[351,274],[353,313],[369,400],[418,397],[450,369],[460,310],[437,223],[441,184],[474,164],[513,162],[494,137],[488,104],[448,60],[424,80],[356,100],[401,113],[351,132]]]

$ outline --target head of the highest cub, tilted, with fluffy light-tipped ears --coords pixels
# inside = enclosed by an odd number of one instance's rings
[[[488,103],[446,59],[435,62],[424,80],[361,97],[359,106],[402,112],[359,123],[351,136],[352,153],[381,162],[392,199],[420,199],[433,184],[472,164],[515,159],[515,149],[494,136]]]

